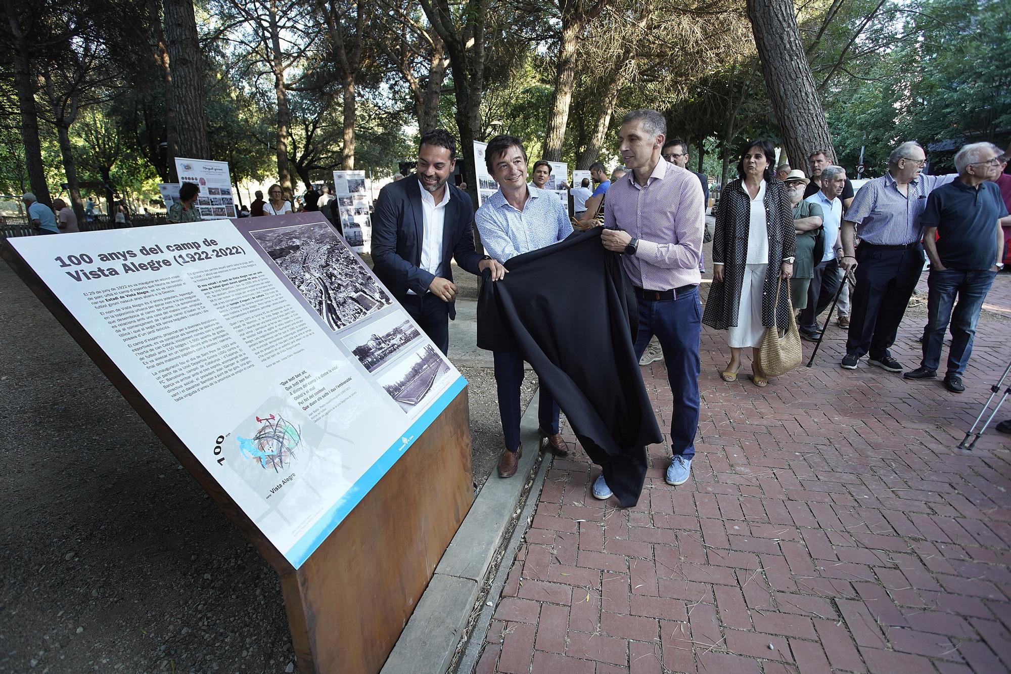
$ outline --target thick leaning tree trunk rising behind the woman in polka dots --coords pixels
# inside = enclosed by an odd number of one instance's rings
[[[792,158],[808,157],[814,150],[823,149],[834,163],[832,136],[797,29],[794,3],[747,0],[747,12],[787,154]]]

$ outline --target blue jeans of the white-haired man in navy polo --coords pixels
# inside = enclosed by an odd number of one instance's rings
[[[946,376],[961,376],[973,354],[973,337],[980,321],[980,309],[994,282],[996,271],[932,269],[927,277],[927,327],[923,329],[921,365],[937,369],[941,360],[944,330],[951,322],[951,348],[948,349]],[[954,304],[957,296],[958,304]],[[954,305],[952,314],[951,306]]]

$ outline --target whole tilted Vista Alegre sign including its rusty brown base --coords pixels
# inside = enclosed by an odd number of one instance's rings
[[[318,213],[3,256],[281,576],[303,672],[378,671],[473,499],[466,382]]]

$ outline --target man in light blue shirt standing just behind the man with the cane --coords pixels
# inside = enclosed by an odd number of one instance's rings
[[[826,166],[821,173],[821,189],[809,196],[807,201],[817,203],[822,209],[822,238],[825,243],[821,261],[815,265],[814,276],[808,287],[808,306],[801,311],[798,330],[801,337],[817,342],[821,337],[818,315],[832,302],[839,289],[839,274],[835,261],[836,239],[842,222],[842,201],[839,195],[846,187],[846,170],[841,166]]]

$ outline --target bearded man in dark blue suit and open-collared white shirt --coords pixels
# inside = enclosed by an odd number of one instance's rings
[[[418,171],[379,192],[372,216],[376,276],[432,341],[449,351],[449,321],[456,318],[451,259],[491,279],[505,267],[474,250],[474,208],[466,192],[447,183],[456,165],[456,142],[436,129],[422,136]]]

